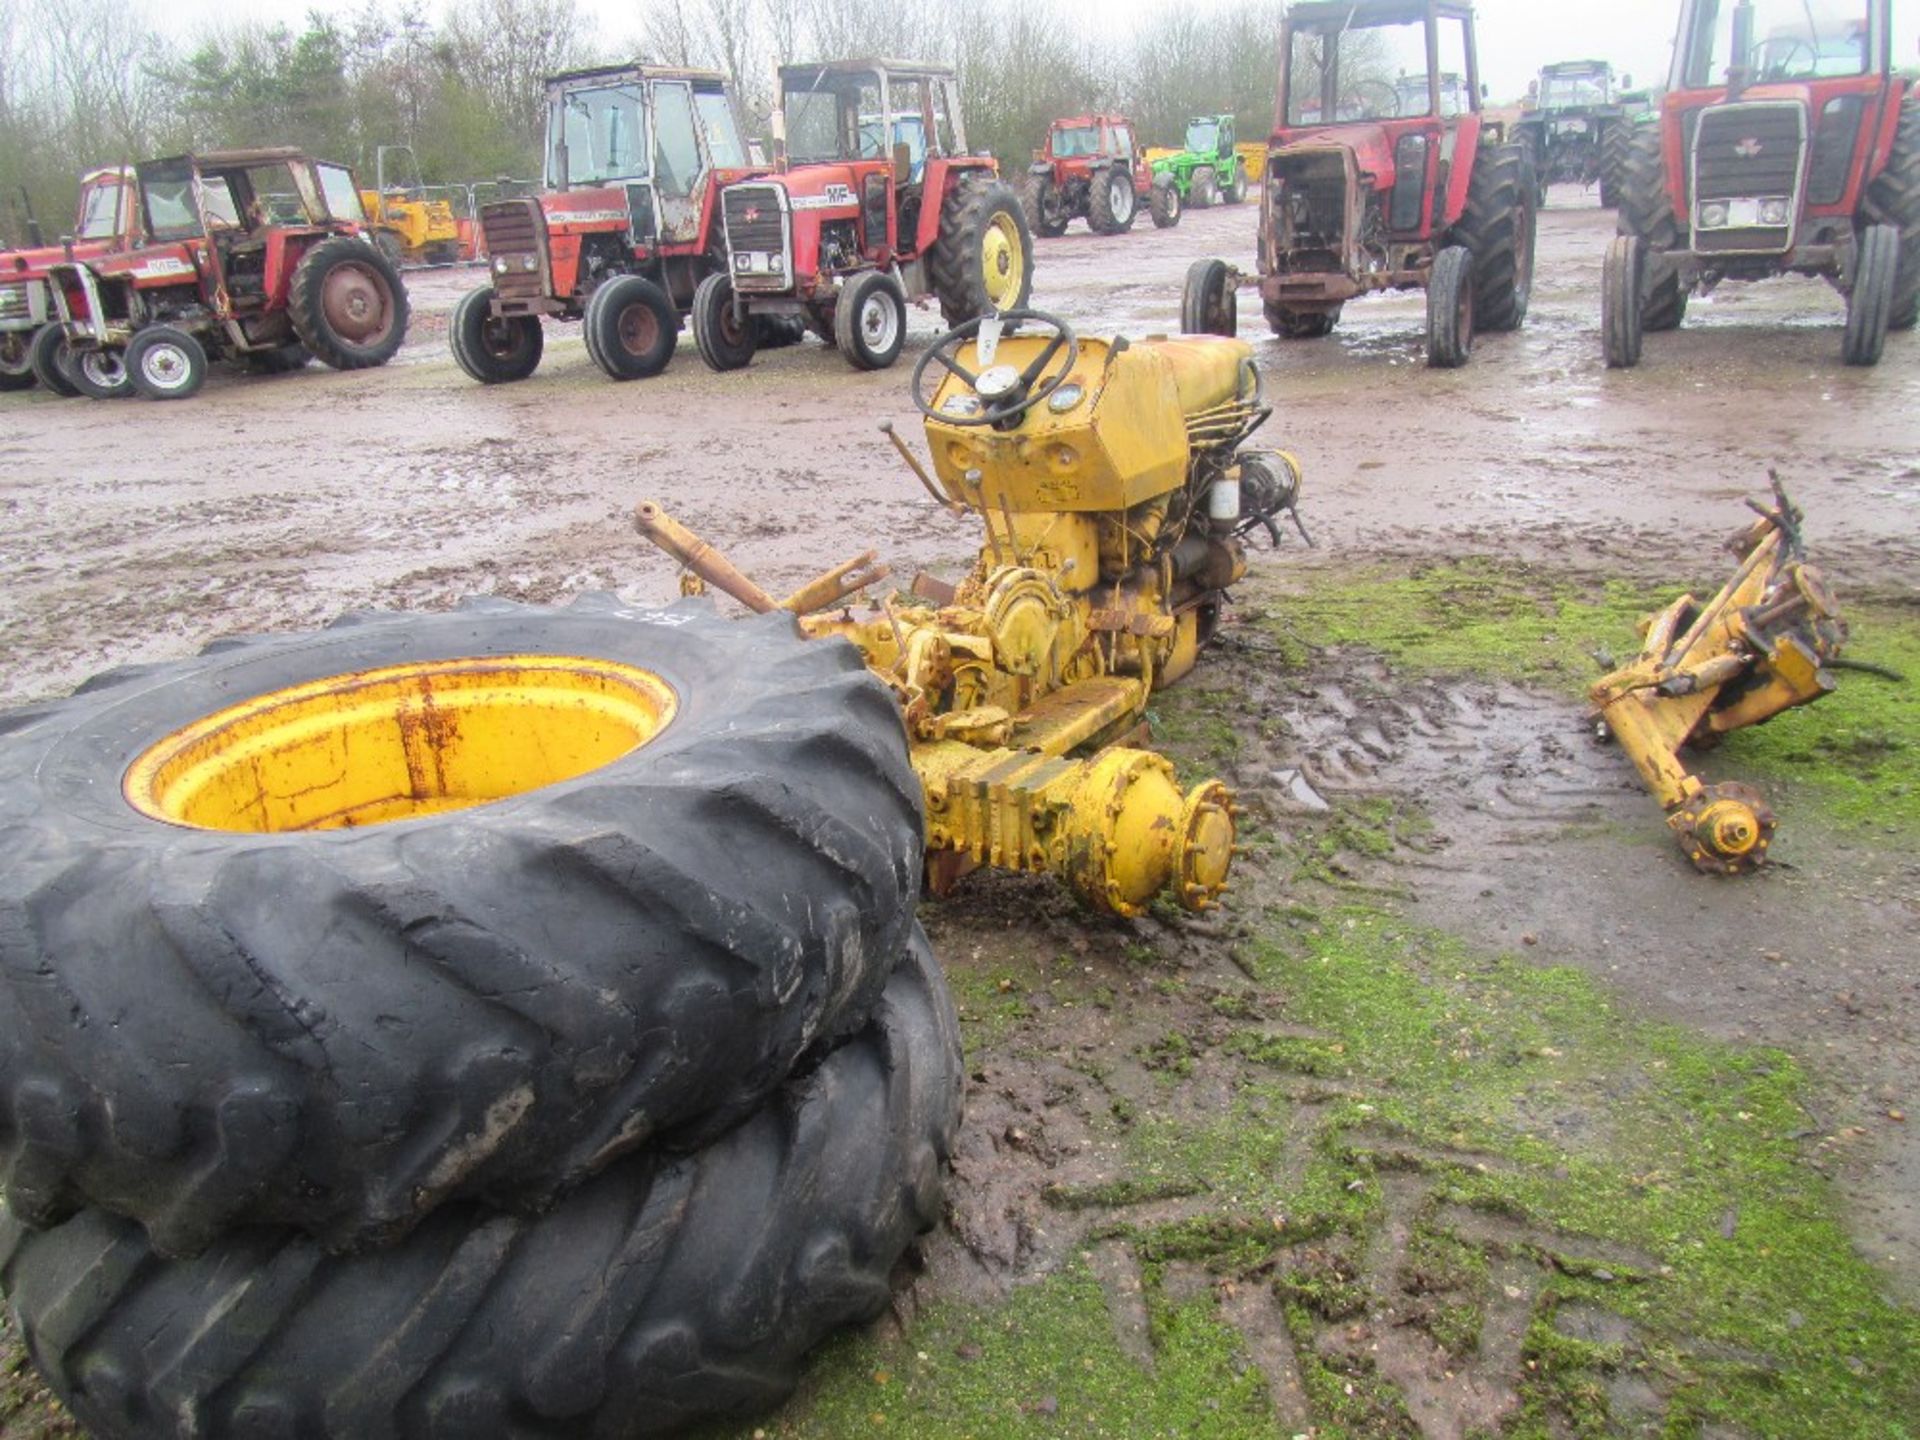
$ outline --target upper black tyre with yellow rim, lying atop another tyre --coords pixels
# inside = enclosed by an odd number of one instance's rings
[[[899,708],[789,614],[348,616],[0,732],[4,1198],[167,1254],[695,1144],[860,1025],[920,891]]]

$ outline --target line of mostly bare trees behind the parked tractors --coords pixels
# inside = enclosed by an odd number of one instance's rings
[[[1188,115],[1273,119],[1281,0],[1164,0],[1129,31],[1092,10],[983,0],[933,13],[870,0],[649,0],[601,35],[576,0],[363,0],[300,29],[230,21],[157,33],[138,4],[0,0],[0,234],[69,228],[83,169],[192,148],[298,144],[372,182],[378,146],[409,144],[430,184],[538,179],[541,79],[651,60],[726,73],[766,132],[789,60],[900,56],[960,73],[968,140],[1025,163],[1058,115],[1131,115],[1179,144]]]

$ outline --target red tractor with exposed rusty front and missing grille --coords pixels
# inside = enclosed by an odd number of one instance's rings
[[[1273,332],[1332,334],[1348,300],[1380,290],[1427,292],[1436,367],[1465,365],[1478,330],[1517,330],[1538,202],[1526,148],[1480,115],[1473,6],[1296,4],[1281,56],[1260,200],[1258,284]],[[1455,75],[1463,86],[1448,83]],[[1244,282],[1223,261],[1196,261],[1183,326],[1233,334]]]

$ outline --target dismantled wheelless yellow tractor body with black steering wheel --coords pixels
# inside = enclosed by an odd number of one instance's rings
[[[1271,413],[1252,348],[1081,340],[1020,311],[941,336],[914,399],[931,474],[883,428],[943,507],[985,528],[958,584],[920,576],[856,614],[847,597],[885,576],[864,555],[776,601],[657,505],[639,507],[639,528],[701,584],[851,639],[893,685],[935,891],[993,866],[1058,876],[1123,916],[1162,893],[1208,908],[1227,889],[1231,795],[1217,780],[1183,791],[1135,743],[1150,695],[1194,668],[1219,624],[1246,538],[1277,543],[1298,497],[1292,457],[1242,449]]]

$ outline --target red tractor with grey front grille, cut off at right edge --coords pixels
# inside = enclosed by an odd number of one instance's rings
[[[1893,73],[1891,0],[1680,8],[1659,123],[1634,132],[1620,175],[1607,365],[1638,365],[1688,296],[1774,275],[1847,296],[1847,365],[1878,365],[1887,330],[1920,319],[1920,96]]]

